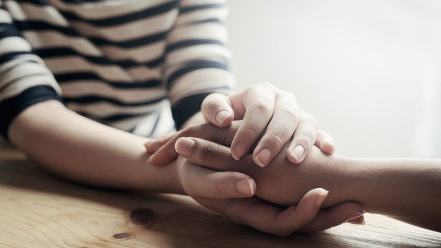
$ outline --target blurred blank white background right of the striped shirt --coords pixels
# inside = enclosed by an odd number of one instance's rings
[[[240,89],[294,92],[337,154],[441,158],[441,1],[230,0]]]

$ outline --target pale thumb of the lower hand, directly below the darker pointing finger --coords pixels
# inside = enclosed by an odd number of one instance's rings
[[[181,183],[189,196],[203,198],[244,198],[256,192],[254,180],[239,172],[216,172],[178,158]]]

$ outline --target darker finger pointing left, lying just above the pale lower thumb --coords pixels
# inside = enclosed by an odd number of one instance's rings
[[[237,171],[244,167],[241,165],[250,162],[247,159],[236,161],[228,147],[201,138],[179,138],[176,152],[196,165],[218,171]]]

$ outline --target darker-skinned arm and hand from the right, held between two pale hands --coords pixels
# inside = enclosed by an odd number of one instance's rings
[[[218,132],[232,136],[229,132],[234,128]],[[187,149],[188,155],[179,141],[178,152],[204,167],[252,176],[256,196],[273,203],[293,205],[310,189],[322,187],[329,190],[323,207],[355,201],[366,211],[441,231],[440,159],[342,158],[327,156],[313,147],[300,165],[292,165],[280,152],[267,167],[260,168],[253,163],[251,154],[236,162],[228,147],[198,138],[192,140],[196,145]],[[225,139],[224,144],[229,142],[231,138]]]

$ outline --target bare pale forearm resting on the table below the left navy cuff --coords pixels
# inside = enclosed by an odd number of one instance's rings
[[[176,165],[147,164],[147,138],[115,130],[45,101],[12,122],[10,140],[45,169],[104,187],[181,193]]]

